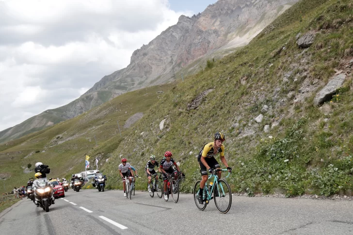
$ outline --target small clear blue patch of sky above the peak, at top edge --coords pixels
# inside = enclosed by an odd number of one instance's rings
[[[209,4],[217,0],[169,0],[170,8],[174,11],[192,11],[195,14],[203,12]]]

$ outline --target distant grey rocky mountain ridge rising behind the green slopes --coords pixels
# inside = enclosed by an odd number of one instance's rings
[[[246,45],[297,1],[218,0],[202,13],[180,16],[176,25],[135,50],[128,67],[105,76],[68,105],[1,131],[0,142],[73,118],[127,91],[171,81],[181,69],[184,74],[193,73],[203,66],[205,58],[219,58],[233,47]]]

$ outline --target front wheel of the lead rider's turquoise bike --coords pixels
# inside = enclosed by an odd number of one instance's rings
[[[232,205],[232,191],[224,179],[218,180],[217,187],[213,190],[213,197],[217,209],[222,214],[227,213]]]

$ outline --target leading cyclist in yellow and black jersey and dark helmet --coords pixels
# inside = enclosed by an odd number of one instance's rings
[[[199,191],[199,203],[203,204],[203,192],[206,181],[208,179],[208,172],[212,173],[213,169],[221,169],[218,161],[214,158],[215,155],[219,154],[221,161],[225,164],[229,172],[232,171],[232,168],[228,166],[227,160],[225,160],[225,146],[223,141],[225,141],[225,135],[221,132],[216,132],[213,136],[214,141],[208,144],[205,144],[201,149],[197,161],[199,164],[200,173],[202,176],[200,182],[200,191]],[[221,178],[221,172],[217,172],[217,176]]]

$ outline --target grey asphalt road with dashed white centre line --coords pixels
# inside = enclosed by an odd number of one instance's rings
[[[178,203],[155,194],[69,189],[47,213],[24,199],[0,213],[1,235],[353,235],[353,202],[233,196],[227,214],[213,201],[204,211],[193,195]]]

